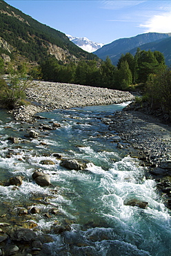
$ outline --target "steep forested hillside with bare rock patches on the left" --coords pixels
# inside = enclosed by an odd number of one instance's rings
[[[41,62],[48,55],[63,62],[92,60],[95,55],[83,51],[58,30],[25,15],[0,1],[0,54],[10,58],[21,55],[31,62]]]

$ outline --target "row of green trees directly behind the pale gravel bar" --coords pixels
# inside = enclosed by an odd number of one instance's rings
[[[165,59],[159,51],[141,51],[133,56],[130,53],[121,55],[117,66],[109,57],[105,61],[80,61],[78,64],[62,64],[54,57],[41,63],[43,80],[66,82],[110,89],[128,90],[130,84],[144,83],[150,74],[164,70]]]

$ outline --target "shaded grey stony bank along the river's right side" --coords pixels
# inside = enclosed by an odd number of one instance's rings
[[[130,156],[148,167],[147,179],[155,179],[157,188],[171,209],[171,126],[139,111],[119,111],[103,122],[117,131],[119,148],[130,144]]]

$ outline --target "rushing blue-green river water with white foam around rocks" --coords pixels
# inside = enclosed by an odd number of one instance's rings
[[[46,245],[47,255],[170,256],[170,210],[155,182],[145,179],[145,167],[128,156],[129,149],[117,148],[112,140],[116,134],[101,122],[123,106],[41,113],[47,119],[38,120],[32,128],[0,111],[0,216],[2,221],[21,226],[34,221],[37,232],[52,234],[54,241]],[[25,137],[29,129],[39,131],[41,123],[52,122],[61,127],[41,131],[32,140]],[[9,136],[18,137],[19,143],[12,144]],[[87,170],[66,170],[54,153],[93,164]],[[47,159],[55,164],[40,163]],[[41,188],[32,181],[32,173],[39,168],[50,174],[53,186]],[[16,175],[24,177],[18,189],[4,185]],[[148,201],[148,208],[125,205],[130,199]],[[32,205],[41,212],[17,214],[17,209]],[[45,217],[52,208],[57,208],[57,214]],[[58,225],[71,230],[55,235]]]

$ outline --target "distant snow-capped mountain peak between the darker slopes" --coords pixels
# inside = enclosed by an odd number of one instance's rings
[[[67,36],[70,39],[70,41],[72,41],[74,44],[82,48],[84,51],[87,51],[88,53],[97,51],[99,48],[101,48],[104,45],[104,44],[92,42],[86,37],[72,37],[72,35],[67,35]]]

